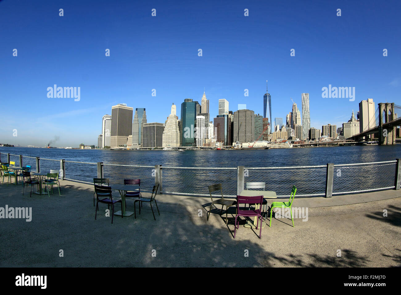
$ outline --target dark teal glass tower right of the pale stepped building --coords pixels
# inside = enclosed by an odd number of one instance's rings
[[[196,106],[197,102],[192,99],[186,98],[181,104],[181,145],[194,146],[195,145],[195,121],[196,121]]]

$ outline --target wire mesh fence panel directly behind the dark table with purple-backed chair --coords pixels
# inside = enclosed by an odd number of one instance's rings
[[[109,178],[112,184],[124,184],[124,179],[140,179],[141,191],[152,191],[155,183],[155,169],[154,166],[103,164],[103,177]]]

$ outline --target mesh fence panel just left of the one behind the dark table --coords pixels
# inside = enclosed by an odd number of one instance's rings
[[[65,161],[64,167],[64,178],[67,180],[73,179],[93,183],[93,178],[97,178],[97,164]]]

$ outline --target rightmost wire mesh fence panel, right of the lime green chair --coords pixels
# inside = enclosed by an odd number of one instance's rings
[[[334,165],[333,193],[394,187],[395,166],[395,162],[352,166]]]

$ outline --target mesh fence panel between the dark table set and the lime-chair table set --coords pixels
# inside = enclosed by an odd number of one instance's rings
[[[178,169],[162,168],[163,193],[209,195],[209,185],[221,183],[224,195],[237,195],[237,168]],[[214,194],[219,194],[215,192]],[[221,195],[221,193],[220,193]]]

